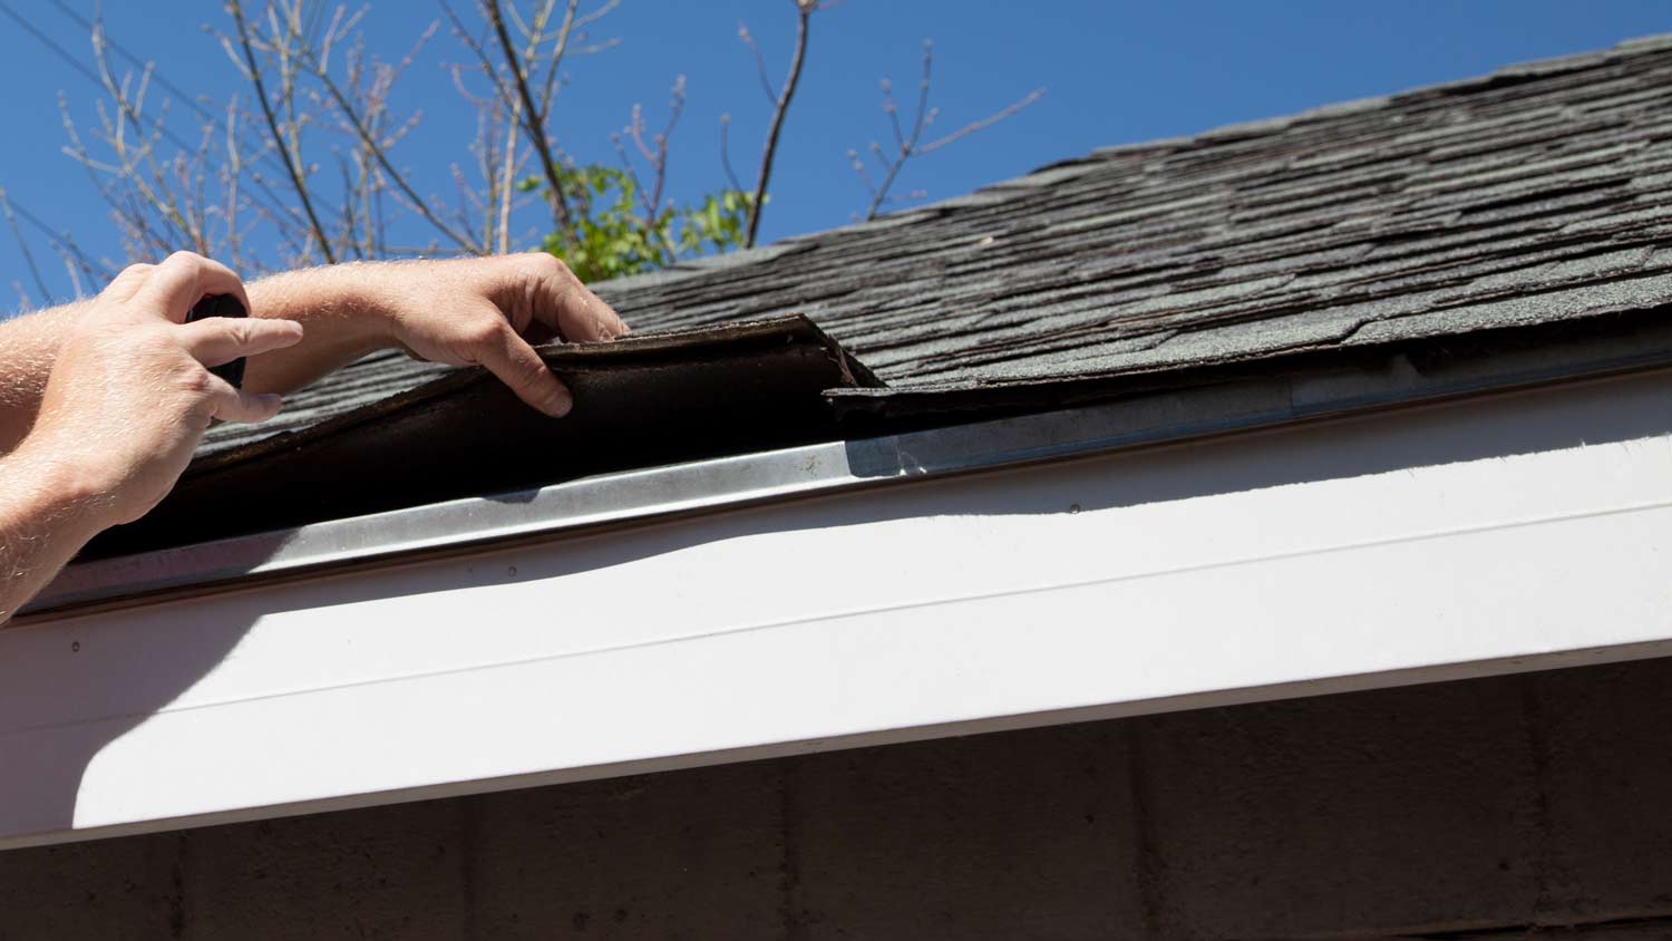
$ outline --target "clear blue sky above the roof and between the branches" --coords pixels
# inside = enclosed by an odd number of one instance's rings
[[[5,2],[65,48],[87,55],[84,30],[50,0]],[[84,13],[94,7],[65,2]],[[433,18],[440,8],[428,0],[373,0],[368,43],[398,55]],[[236,87],[217,42],[201,28],[224,22],[219,0],[107,2],[105,20],[119,43],[155,60],[176,85],[211,97]],[[594,32],[594,38],[619,37],[620,43],[565,69],[568,85],[555,119],[565,145],[584,160],[614,159],[609,134],[625,124],[635,102],[657,124],[667,89],[682,74],[689,105],[672,144],[674,196],[691,199],[724,184],[721,114],[732,115],[732,159],[751,177],[769,105],[754,60],[737,40],[739,22],[759,40],[777,80],[794,30],[791,0],[624,0]],[[1672,0],[846,0],[819,13],[813,28],[762,241],[839,226],[863,211],[866,192],[844,154],[888,139],[878,80],[893,77],[908,95],[928,37],[936,50],[933,104],[943,130],[1047,89],[1008,122],[908,167],[896,187],[941,199],[1095,147],[1667,32]],[[396,107],[425,115],[396,152],[425,192],[450,189],[446,165],[463,155],[460,142],[473,132],[473,115],[443,69],[465,55],[443,30],[398,90]],[[0,122],[8,129],[0,186],[54,229],[74,232],[84,247],[119,264],[122,247],[104,204],[85,172],[60,152],[59,92],[79,122],[92,124],[97,89],[10,20],[0,20],[0,80],[8,89],[0,99]],[[189,134],[189,122],[182,129]],[[62,299],[62,264],[27,226],[25,234]],[[17,306],[13,282],[27,276],[7,236],[0,239],[3,309]]]

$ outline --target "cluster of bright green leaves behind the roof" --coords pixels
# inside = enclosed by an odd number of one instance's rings
[[[605,281],[667,267],[709,251],[744,244],[751,196],[736,189],[712,192],[696,206],[642,206],[632,174],[592,164],[560,170],[558,182],[575,212],[573,231],[557,231],[540,247],[563,259],[582,281]],[[522,192],[545,189],[543,177],[518,184]]]

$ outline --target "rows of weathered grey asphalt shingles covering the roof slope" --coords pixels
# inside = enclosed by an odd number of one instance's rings
[[[635,331],[801,313],[891,386],[1157,371],[1672,301],[1672,38],[1099,150],[597,286]],[[1667,247],[1662,247],[1667,246]],[[406,389],[361,361],[219,450]]]

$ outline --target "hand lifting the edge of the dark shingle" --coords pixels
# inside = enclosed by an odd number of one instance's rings
[[[390,339],[418,359],[485,366],[525,403],[553,416],[573,398],[532,343],[587,343],[627,333],[615,311],[545,252],[351,266],[375,272]]]

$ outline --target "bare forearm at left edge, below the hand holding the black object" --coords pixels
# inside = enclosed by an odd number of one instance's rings
[[[105,526],[105,503],[50,446],[0,458],[0,625]]]

